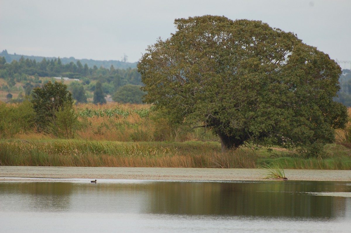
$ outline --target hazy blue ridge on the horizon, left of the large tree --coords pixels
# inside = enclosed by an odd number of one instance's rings
[[[24,59],[31,59],[37,61],[37,62],[41,62],[44,57],[41,56],[27,56],[27,55],[20,55],[20,54],[8,54],[7,50],[2,50],[2,52],[0,53],[1,57],[5,57],[6,62],[11,63],[13,60],[17,60],[19,61],[20,58],[23,56]],[[58,57],[45,57],[46,60],[51,61],[51,59],[55,60],[58,59]],[[93,68],[93,66],[97,66],[98,68],[100,68],[100,66],[104,67],[104,68],[110,68],[111,65],[113,65],[113,67],[115,69],[126,69],[126,68],[136,68],[137,67],[137,62],[123,62],[123,61],[114,61],[114,60],[109,60],[109,61],[98,61],[98,60],[92,60],[92,59],[75,59],[74,57],[60,57],[62,64],[68,64],[70,62],[73,62],[74,64],[77,63],[77,61],[79,60],[82,65],[84,66],[84,64],[86,63],[88,65],[89,68]]]

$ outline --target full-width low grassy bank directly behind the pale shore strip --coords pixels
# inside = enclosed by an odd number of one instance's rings
[[[321,158],[304,159],[289,151],[221,152],[218,142],[99,142],[83,140],[1,140],[2,166],[106,166],[256,168],[277,163],[284,169],[351,169],[350,150],[326,146]]]

